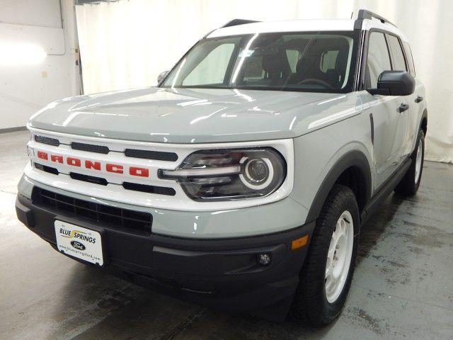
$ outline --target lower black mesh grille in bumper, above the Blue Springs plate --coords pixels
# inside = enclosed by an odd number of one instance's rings
[[[147,212],[79,200],[38,187],[33,188],[32,201],[34,205],[48,208],[61,215],[86,220],[92,224],[151,234],[152,215]]]

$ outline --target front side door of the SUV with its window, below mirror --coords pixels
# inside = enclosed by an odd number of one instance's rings
[[[365,86],[377,88],[379,74],[392,69],[388,42],[384,32],[369,33],[365,65]],[[398,112],[405,98],[379,96],[362,92],[364,113],[372,122],[374,191],[394,174],[402,163],[406,140],[407,118]]]

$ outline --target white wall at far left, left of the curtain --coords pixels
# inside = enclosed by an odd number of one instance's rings
[[[62,2],[67,30],[59,0],[0,0],[0,47],[33,44],[47,54],[38,63],[1,62],[0,56],[0,130],[24,126],[47,103],[80,92],[74,6]]]

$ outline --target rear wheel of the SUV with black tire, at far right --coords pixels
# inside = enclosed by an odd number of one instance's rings
[[[401,196],[413,196],[420,186],[423,172],[423,159],[425,158],[425,134],[423,130],[418,132],[415,150],[411,155],[412,163],[403,179],[395,188],[395,193]]]

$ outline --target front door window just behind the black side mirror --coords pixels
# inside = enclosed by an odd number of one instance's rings
[[[376,88],[379,74],[390,69],[390,56],[384,33],[372,32],[368,42],[367,88]]]

